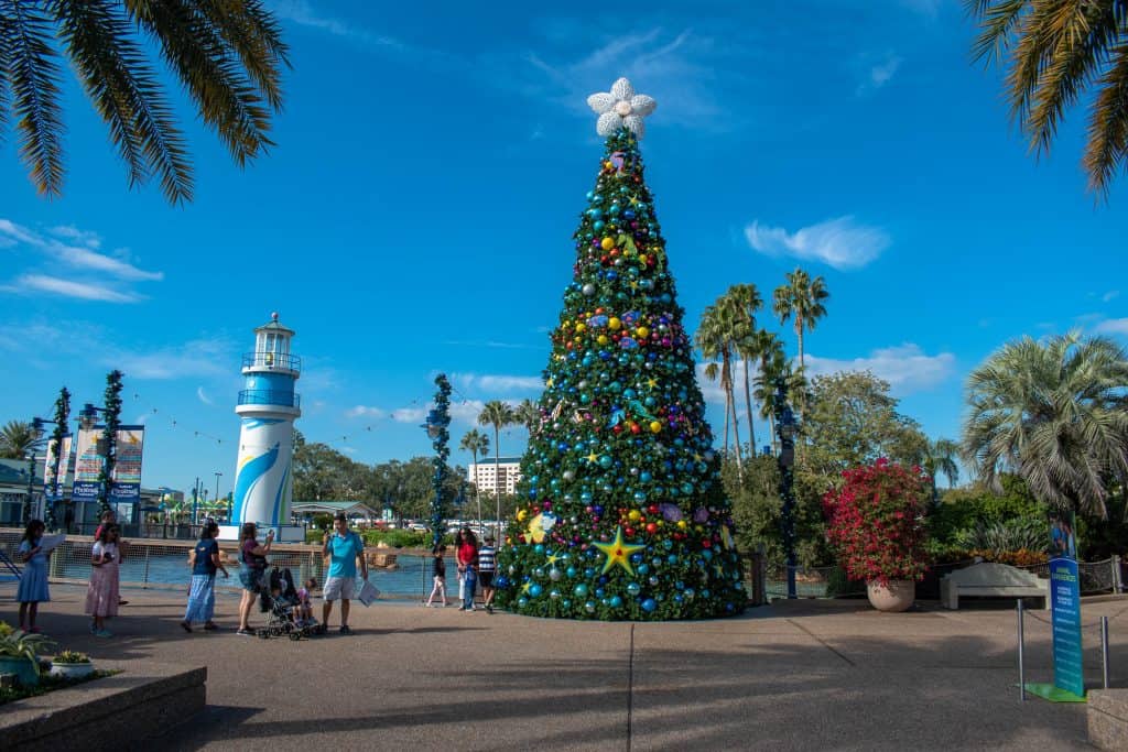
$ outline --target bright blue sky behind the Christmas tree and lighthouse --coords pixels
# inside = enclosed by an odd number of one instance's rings
[[[953,437],[967,372],[1005,340],[1128,335],[1125,180],[1085,193],[1076,115],[1028,156],[958,0],[274,7],[277,147],[240,171],[182,103],[193,204],[126,188],[73,83],[63,198],[0,145],[0,419],[50,415],[62,384],[100,401],[120,368],[144,485],[221,471],[227,493],[239,355],[271,311],[298,331],[299,427],[358,460],[429,451],[437,371],[456,441],[482,401],[536,398],[601,156],[584,99],[619,76],[659,103],[643,153],[690,326],[802,265],[831,292],[810,366],[871,369]]]

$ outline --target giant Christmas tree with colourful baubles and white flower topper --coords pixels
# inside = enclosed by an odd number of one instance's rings
[[[739,613],[720,458],[638,151],[655,103],[626,79],[588,103],[606,153],[574,236],[497,602],[574,619]]]

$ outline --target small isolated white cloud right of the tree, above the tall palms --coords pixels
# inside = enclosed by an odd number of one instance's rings
[[[851,215],[800,228],[795,232],[755,221],[744,228],[744,237],[749,246],[767,256],[818,260],[836,269],[865,266],[891,242],[884,230],[858,224]]]

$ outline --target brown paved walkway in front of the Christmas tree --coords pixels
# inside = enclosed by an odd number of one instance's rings
[[[0,585],[10,622],[14,593]],[[83,589],[52,595],[42,626],[65,647],[208,666],[209,710],[170,749],[1085,749],[1084,706],[1019,702],[1006,608],[793,601],[631,625],[358,603],[356,635],[291,643],[187,635],[182,593],[126,591],[117,636],[98,640]],[[219,620],[235,608],[221,599]],[[1100,614],[1116,617],[1112,683],[1128,685],[1128,600],[1086,602],[1086,623]],[[1028,619],[1026,636],[1030,679],[1048,680],[1049,627]],[[1095,685],[1096,630],[1085,640]]]

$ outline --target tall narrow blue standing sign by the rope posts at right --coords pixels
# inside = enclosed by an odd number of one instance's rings
[[[1054,685],[1085,697],[1081,652],[1081,576],[1073,513],[1050,517],[1050,621],[1054,625]]]

